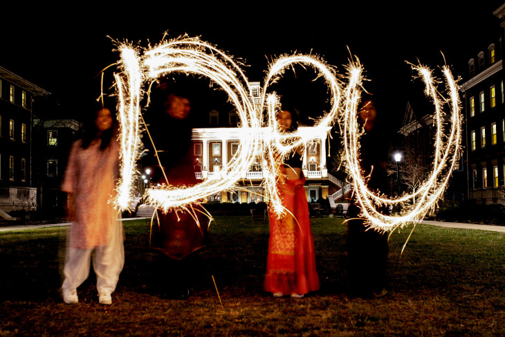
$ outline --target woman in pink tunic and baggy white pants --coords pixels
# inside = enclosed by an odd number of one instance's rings
[[[118,164],[113,124],[111,111],[100,109],[68,158],[62,185],[72,221],[62,284],[67,304],[78,302],[77,287],[89,275],[92,253],[100,304],[111,304],[125,262],[120,214],[111,203]]]

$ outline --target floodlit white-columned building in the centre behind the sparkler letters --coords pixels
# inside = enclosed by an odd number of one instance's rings
[[[260,86],[259,82],[250,82],[250,99],[254,104],[259,104]],[[235,111],[230,111],[224,124],[227,127],[216,127],[222,125],[219,118],[222,117],[217,111],[210,111],[210,127],[195,128],[192,131],[194,146],[194,171],[197,179],[221,179],[228,174],[228,162],[239,149],[241,138],[241,128],[237,127],[238,115]],[[299,128],[300,132],[309,131],[310,127]],[[328,173],[327,170],[327,138],[330,127],[324,129],[321,134],[313,138],[306,146],[303,156],[302,170],[306,177],[304,185],[305,193],[309,202],[315,203],[319,199],[342,199],[346,188],[349,185],[339,181]],[[266,129],[265,129],[266,130]],[[217,202],[238,202],[250,203],[264,200],[264,188],[262,182],[266,174],[266,162],[261,154],[244,173],[241,181],[237,183],[237,190],[221,192],[210,196],[208,201]],[[343,190],[342,190],[343,189]]]

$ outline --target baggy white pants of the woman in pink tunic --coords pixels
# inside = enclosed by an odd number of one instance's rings
[[[64,281],[62,290],[77,289],[88,278],[93,259],[98,293],[113,293],[118,284],[119,274],[125,265],[122,221],[118,219],[111,230],[111,240],[107,246],[89,249],[68,247],[66,251]]]

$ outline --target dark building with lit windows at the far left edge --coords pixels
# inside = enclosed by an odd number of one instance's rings
[[[0,208],[35,210],[33,99],[49,93],[0,67]]]

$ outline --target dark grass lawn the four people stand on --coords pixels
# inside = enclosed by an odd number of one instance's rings
[[[0,233],[0,336],[505,335],[504,233],[418,225],[401,255],[411,228],[395,232],[390,293],[364,300],[345,293],[342,220],[311,221],[321,291],[301,300],[262,291],[268,224],[249,217],[212,223],[187,300],[160,298],[149,221],[125,221],[125,268],[108,307],[93,272],[79,304],[62,302],[66,228]]]

